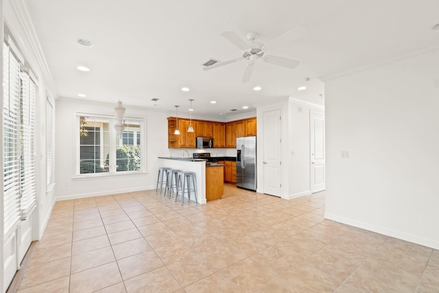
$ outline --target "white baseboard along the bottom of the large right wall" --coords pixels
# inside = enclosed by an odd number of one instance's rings
[[[396,231],[393,229],[385,228],[383,226],[377,226],[377,225],[370,224],[367,222],[361,222],[361,221],[357,221],[357,220],[353,220],[353,219],[349,219],[349,218],[344,218],[344,217],[341,217],[339,215],[333,215],[331,213],[324,213],[324,218],[328,219],[328,220],[333,220],[335,222],[347,224],[350,226],[355,226],[357,228],[362,228],[362,229],[365,229],[368,231],[387,235],[390,237],[395,237],[395,238],[402,239],[402,240],[412,242],[415,244],[431,247],[434,249],[439,249],[439,242],[435,241],[433,239],[427,239],[424,237],[419,237],[417,235],[407,234],[407,233],[404,233],[401,231]]]

